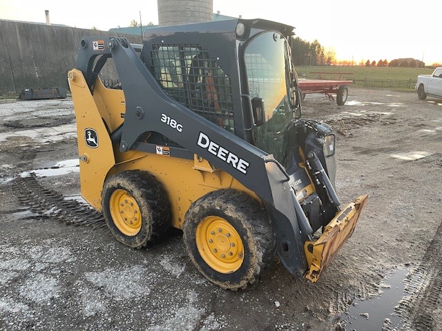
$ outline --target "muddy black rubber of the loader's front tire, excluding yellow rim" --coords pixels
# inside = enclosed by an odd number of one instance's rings
[[[244,258],[235,272],[213,270],[202,259],[195,239],[198,224],[206,217],[222,217],[238,232],[244,245]],[[217,190],[206,194],[186,212],[183,239],[196,268],[211,283],[228,290],[244,289],[271,268],[276,254],[276,239],[269,216],[258,201],[237,190]]]

